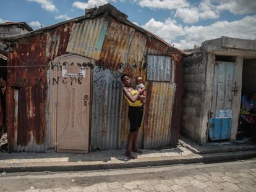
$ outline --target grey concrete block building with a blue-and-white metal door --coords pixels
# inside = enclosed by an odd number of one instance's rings
[[[223,36],[189,51],[183,59],[182,135],[200,144],[236,142],[241,96],[256,90],[256,41]]]

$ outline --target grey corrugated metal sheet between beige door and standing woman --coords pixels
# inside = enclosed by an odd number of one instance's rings
[[[117,149],[122,97],[121,74],[96,66],[93,73],[91,146]]]

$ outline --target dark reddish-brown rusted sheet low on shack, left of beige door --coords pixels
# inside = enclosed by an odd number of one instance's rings
[[[46,149],[46,90],[27,86],[19,89],[17,152]]]

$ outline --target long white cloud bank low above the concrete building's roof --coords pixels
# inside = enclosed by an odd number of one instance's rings
[[[256,15],[246,16],[241,20],[234,22],[215,22],[208,26],[182,27],[177,25],[174,20],[167,19],[164,22],[158,22],[150,19],[142,27],[152,31],[170,44],[177,48],[193,48],[194,44],[201,44],[203,41],[220,38],[221,36],[230,36],[232,38],[256,39]],[[180,39],[180,40],[177,40]]]

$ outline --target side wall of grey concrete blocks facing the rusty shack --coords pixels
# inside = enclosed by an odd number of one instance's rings
[[[183,59],[184,96],[182,99],[181,134],[197,142],[200,142],[199,131],[203,115],[205,67],[201,51]]]

